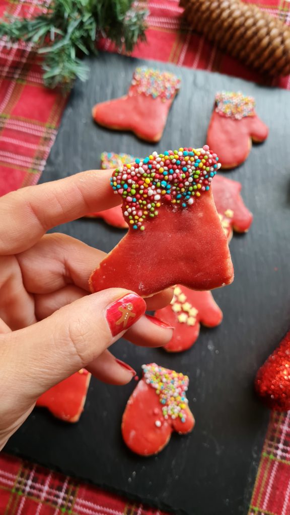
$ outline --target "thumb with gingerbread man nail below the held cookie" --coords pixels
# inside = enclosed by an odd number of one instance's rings
[[[137,294],[110,288],[61,307],[25,329],[1,335],[6,389],[10,385],[17,398],[35,402],[96,359],[145,311],[146,302]]]

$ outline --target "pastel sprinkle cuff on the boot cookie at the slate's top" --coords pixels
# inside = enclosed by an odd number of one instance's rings
[[[159,72],[145,66],[136,68],[132,85],[136,86],[137,92],[144,93],[153,98],[160,97],[162,100],[169,100],[176,95],[180,89],[180,78],[170,72]]]

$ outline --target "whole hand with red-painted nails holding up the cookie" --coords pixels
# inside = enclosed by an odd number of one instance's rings
[[[125,337],[137,345],[171,339],[169,327],[144,315],[146,308],[168,304],[170,290],[149,298],[147,306],[121,288],[88,295],[90,273],[104,252],[63,234],[45,234],[117,205],[110,175],[87,171],[0,199],[0,449],[37,398],[80,368],[111,384],[129,382],[134,371],[107,348],[130,325]]]

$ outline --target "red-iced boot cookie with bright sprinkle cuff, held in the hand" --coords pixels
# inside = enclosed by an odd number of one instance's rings
[[[119,286],[148,297],[175,284],[230,284],[233,265],[211,191],[218,168],[204,146],[153,152],[117,169],[111,185],[129,230],[92,273],[91,291]]]

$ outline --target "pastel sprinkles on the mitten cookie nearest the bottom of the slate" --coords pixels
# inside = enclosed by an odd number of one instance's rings
[[[156,363],[142,365],[145,382],[155,389],[159,402],[163,405],[162,413],[165,420],[180,418],[182,422],[187,418],[186,391],[188,376],[181,372],[159,367]]]

